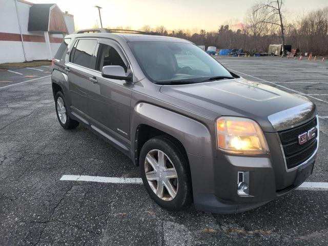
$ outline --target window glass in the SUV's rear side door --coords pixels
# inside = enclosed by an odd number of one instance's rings
[[[71,51],[70,62],[95,69],[96,59],[94,56],[94,50],[97,46],[96,39],[79,39]]]

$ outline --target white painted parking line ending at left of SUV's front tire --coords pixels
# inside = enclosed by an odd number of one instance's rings
[[[63,175],[60,180],[69,181],[89,181],[101,183],[135,183],[142,184],[141,178],[117,178],[117,177],[100,177],[100,176],[87,176],[87,175]]]

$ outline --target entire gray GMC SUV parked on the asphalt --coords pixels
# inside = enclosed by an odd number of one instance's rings
[[[140,167],[169,210],[257,208],[312,174],[316,106],[254,83],[185,39],[87,30],[65,37],[52,62],[59,123],[79,124]]]

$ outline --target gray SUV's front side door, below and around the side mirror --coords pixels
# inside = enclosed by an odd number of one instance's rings
[[[110,39],[99,39],[96,54],[97,81],[91,84],[89,89],[90,122],[98,130],[129,146],[133,83],[101,76],[101,69],[104,66],[122,66],[127,74],[130,73],[127,56],[121,47]],[[125,149],[125,146],[119,147]]]

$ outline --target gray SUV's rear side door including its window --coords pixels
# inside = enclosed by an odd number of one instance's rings
[[[71,98],[71,112],[86,124],[88,117],[88,89],[92,83],[92,73],[95,72],[95,49],[98,40],[95,38],[80,38],[74,43],[70,52],[69,63],[65,70],[68,75],[68,86]]]

